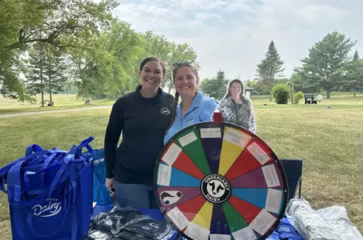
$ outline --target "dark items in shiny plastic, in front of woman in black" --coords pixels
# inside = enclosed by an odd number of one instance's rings
[[[167,240],[174,233],[166,221],[152,219],[131,207],[113,207],[91,220],[84,240]]]

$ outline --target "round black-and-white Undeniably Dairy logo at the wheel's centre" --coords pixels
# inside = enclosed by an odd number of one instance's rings
[[[211,174],[203,178],[201,192],[209,202],[222,203],[230,197],[230,183],[223,176]]]

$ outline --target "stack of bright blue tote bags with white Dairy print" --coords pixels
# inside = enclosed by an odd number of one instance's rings
[[[93,139],[69,152],[33,144],[26,156],[0,169],[13,240],[83,239],[92,215]]]

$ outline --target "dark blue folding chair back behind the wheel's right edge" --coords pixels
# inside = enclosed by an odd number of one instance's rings
[[[303,160],[302,159],[280,159],[282,166],[284,167],[287,185],[289,186],[289,198],[296,196],[296,190],[298,189],[298,198],[301,198],[301,177],[303,176]]]

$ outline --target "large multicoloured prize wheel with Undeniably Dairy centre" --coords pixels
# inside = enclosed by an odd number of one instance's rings
[[[164,217],[194,240],[265,239],[288,198],[272,149],[227,122],[199,122],[174,135],[157,159],[154,185]]]

